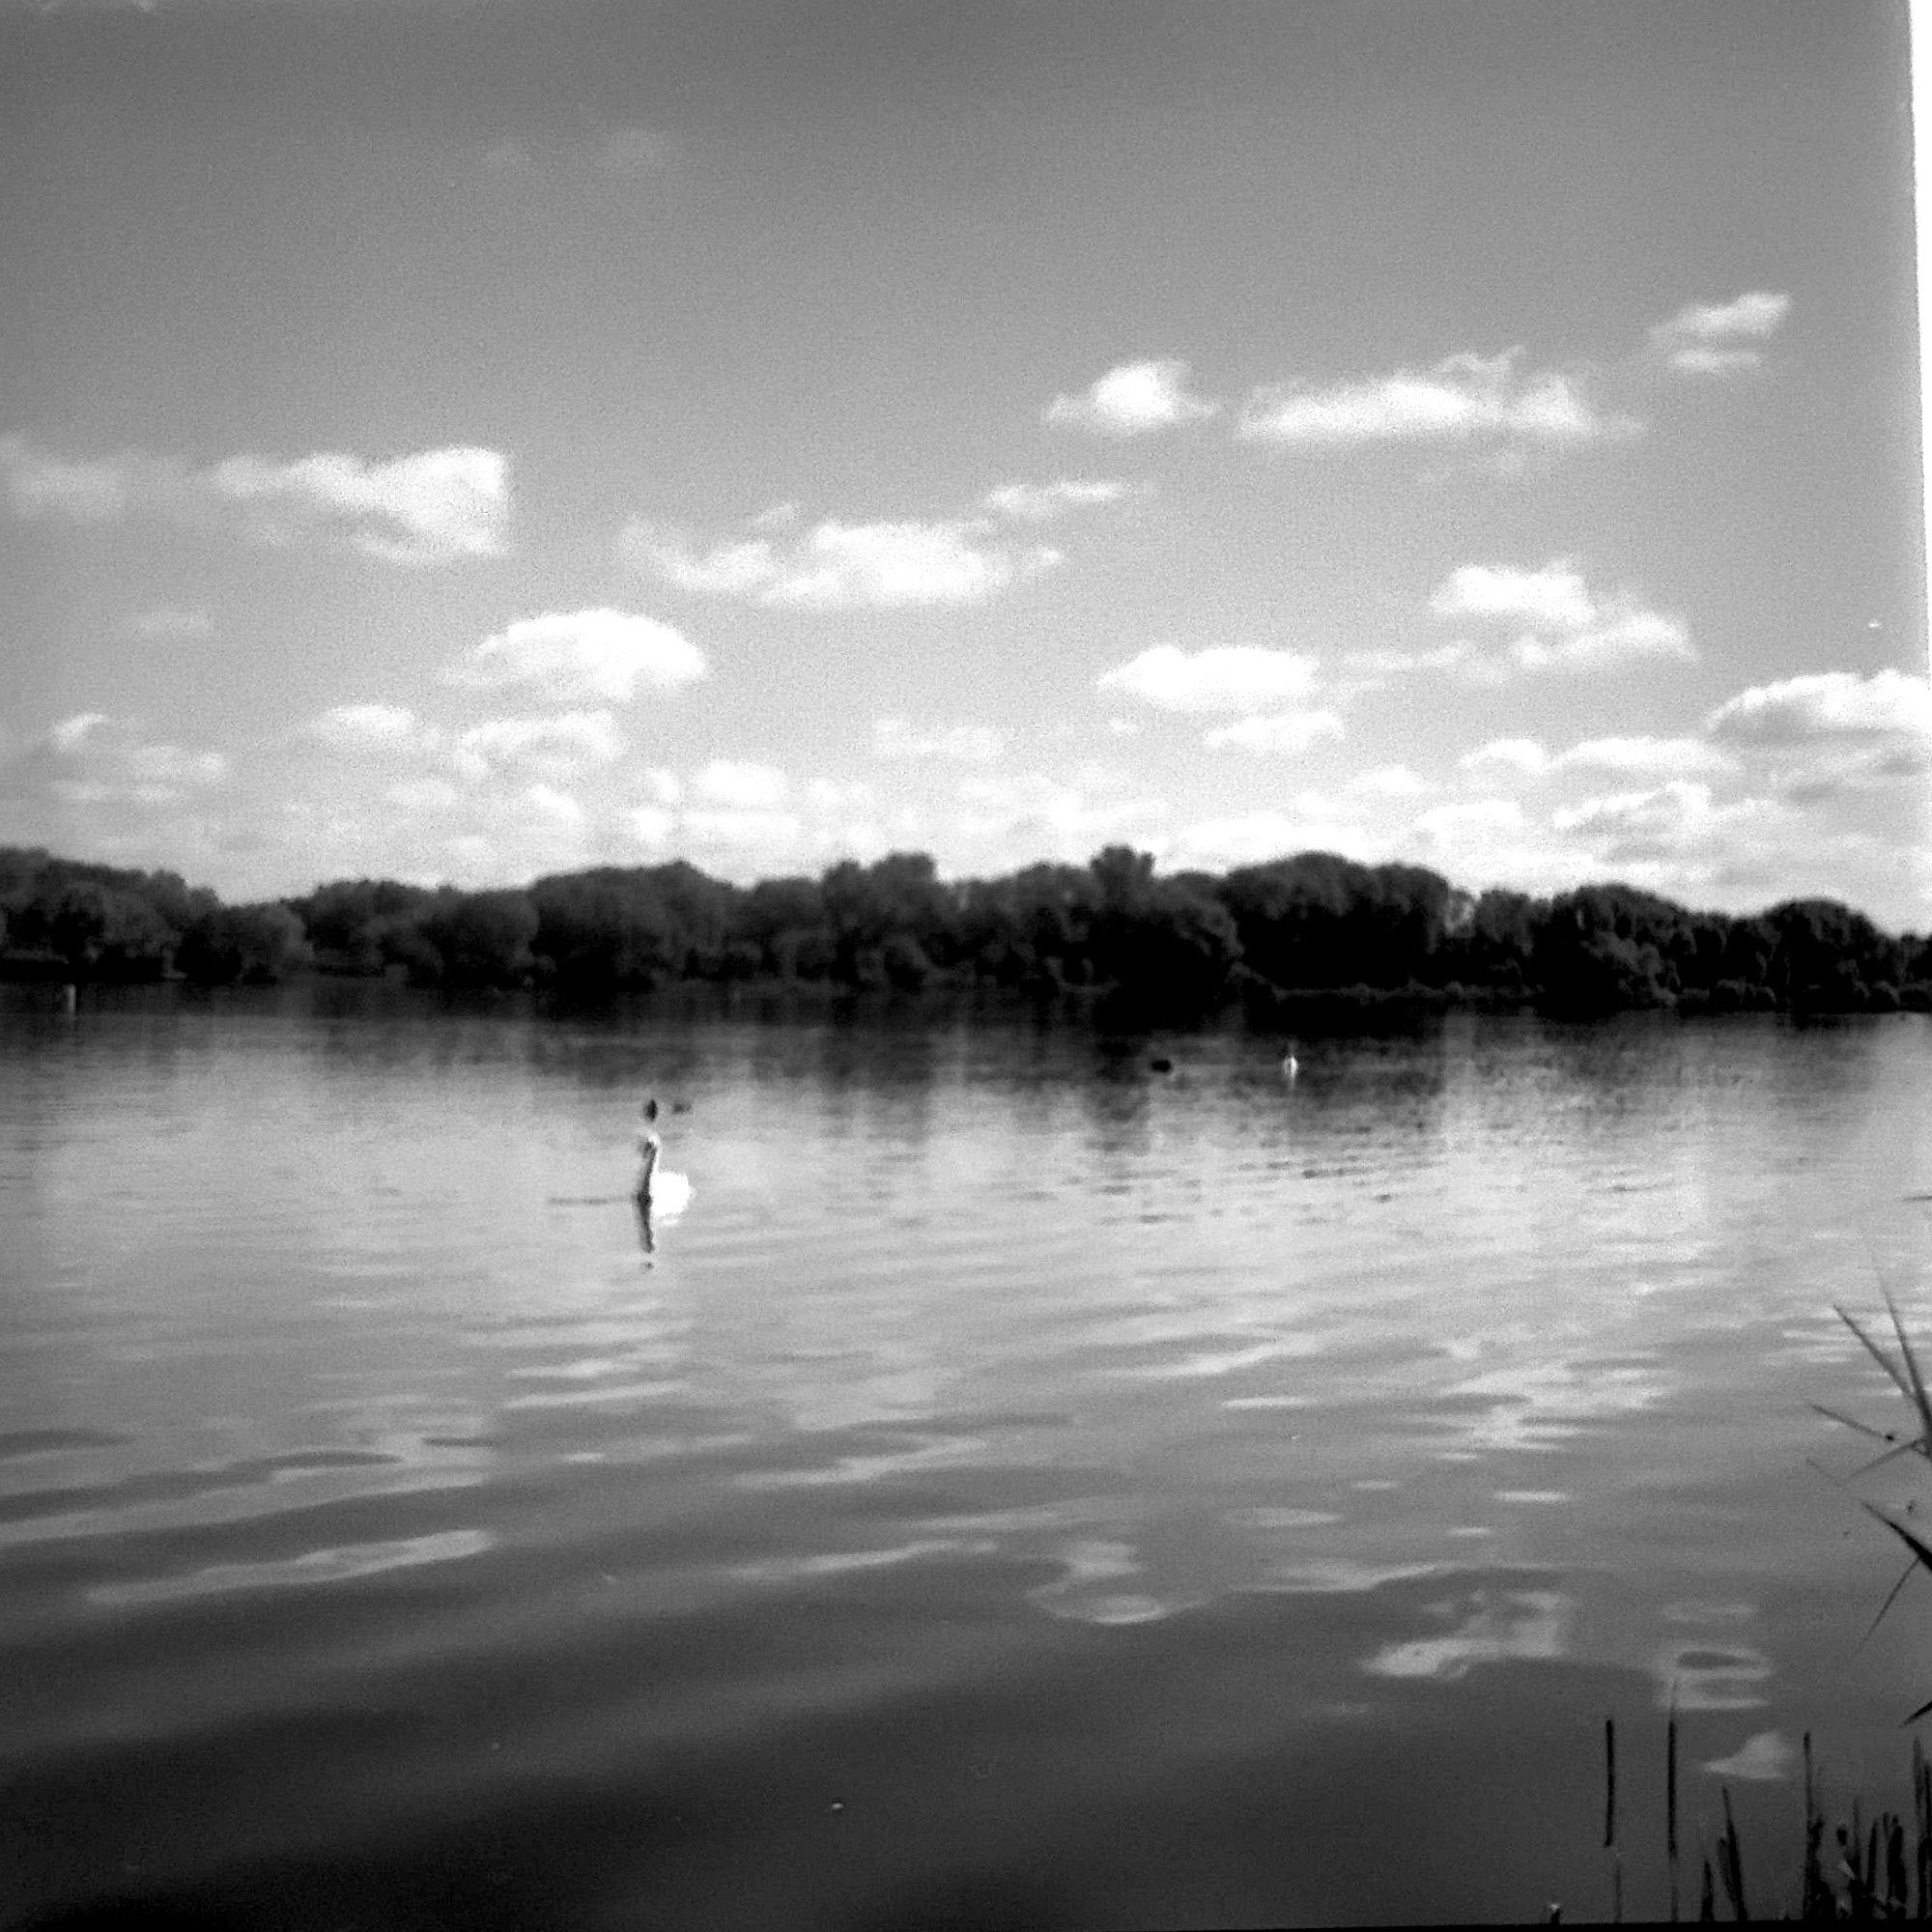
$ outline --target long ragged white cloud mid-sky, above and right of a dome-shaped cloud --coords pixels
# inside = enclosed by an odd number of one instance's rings
[[[782,535],[788,522],[767,514],[753,535],[701,549],[682,529],[639,518],[620,543],[636,568],[676,589],[802,611],[985,603],[1061,560],[1059,551],[999,541],[987,518],[827,520]]]

